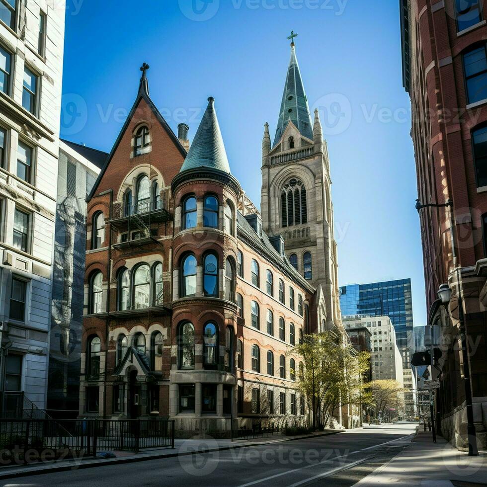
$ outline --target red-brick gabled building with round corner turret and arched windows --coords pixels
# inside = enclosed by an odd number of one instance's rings
[[[170,417],[182,435],[229,431],[232,417],[300,423],[301,359],[290,352],[341,323],[283,238],[263,231],[231,174],[213,98],[191,147],[178,129],[144,69],[88,198],[80,415]]]

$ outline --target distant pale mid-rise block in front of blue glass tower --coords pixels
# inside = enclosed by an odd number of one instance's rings
[[[403,359],[391,319],[388,316],[350,316],[342,320],[345,329],[366,327],[372,333],[372,380],[392,379],[404,387]]]

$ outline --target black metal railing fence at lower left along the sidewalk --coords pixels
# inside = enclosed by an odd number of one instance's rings
[[[174,421],[148,419],[0,419],[0,450],[69,451],[96,456],[100,451],[174,448]],[[8,454],[7,454],[8,457]]]

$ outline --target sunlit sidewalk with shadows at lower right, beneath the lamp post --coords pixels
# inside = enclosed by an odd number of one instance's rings
[[[403,452],[364,477],[355,486],[467,486],[487,485],[487,453],[469,457],[430,431],[419,431]]]

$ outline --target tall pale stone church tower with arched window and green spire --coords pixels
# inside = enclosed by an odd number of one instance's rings
[[[341,322],[331,179],[319,112],[312,122],[291,33],[291,60],[274,142],[269,124],[262,141],[262,223],[281,235],[296,270],[325,296],[326,324]]]

